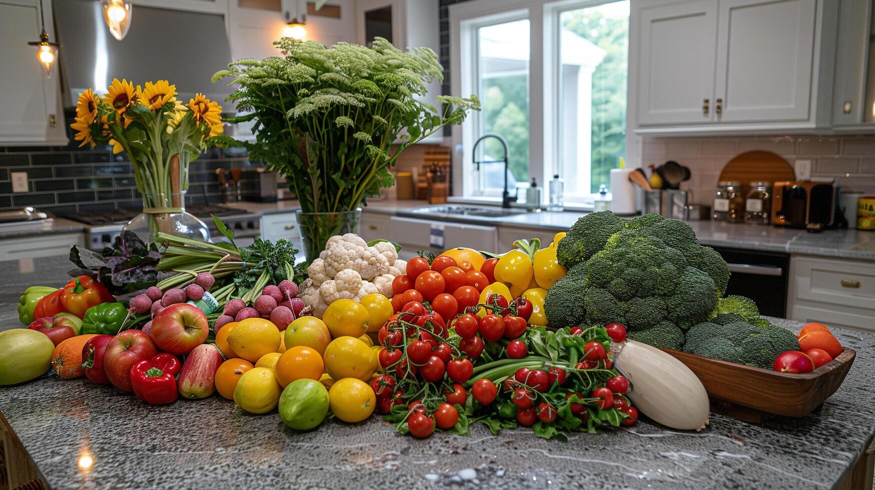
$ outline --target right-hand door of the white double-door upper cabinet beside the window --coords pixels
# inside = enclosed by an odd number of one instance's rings
[[[722,122],[809,119],[817,0],[721,0]]]

